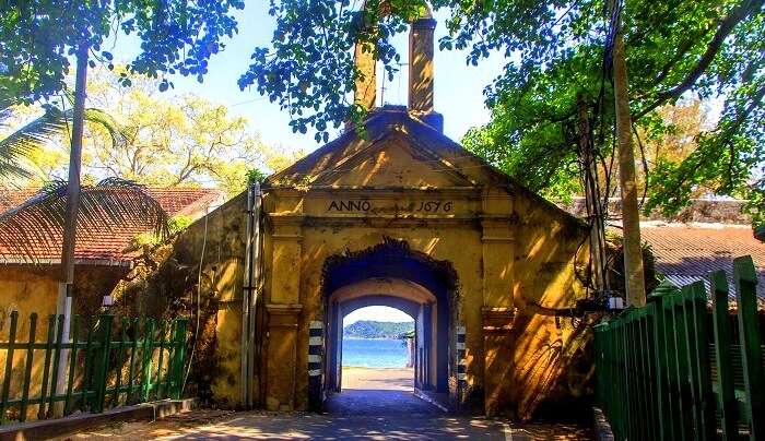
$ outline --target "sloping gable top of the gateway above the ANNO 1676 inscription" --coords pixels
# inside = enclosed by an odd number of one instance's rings
[[[575,216],[520,186],[483,158],[412,116],[404,106],[385,106],[372,110],[364,126],[364,138],[358,135],[355,128],[345,130],[338,139],[270,176],[264,188],[325,187],[328,177],[348,170],[355,162],[364,160],[376,148],[380,148],[384,141],[400,136],[412,145],[420,156],[417,160],[428,162],[438,171],[454,177],[456,187],[505,188],[511,194],[523,194],[560,216],[578,223]]]

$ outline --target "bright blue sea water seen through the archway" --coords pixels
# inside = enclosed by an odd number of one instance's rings
[[[343,338],[343,366],[405,368],[408,359],[402,339]]]

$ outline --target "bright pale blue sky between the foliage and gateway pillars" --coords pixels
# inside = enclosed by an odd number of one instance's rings
[[[460,140],[464,132],[474,126],[489,121],[490,114],[483,104],[483,88],[501,72],[504,59],[501,55],[484,60],[479,68],[466,64],[466,52],[439,51],[437,39],[446,32],[444,25],[446,11],[436,13],[435,56],[435,105],[444,114],[445,132],[454,140]],[[239,91],[236,84],[239,75],[249,64],[251,51],[257,46],[269,46],[274,28],[274,19],[268,15],[268,2],[248,2],[244,11],[238,11],[239,34],[229,40],[226,49],[212,58],[209,73],[203,83],[195,78],[172,76],[175,90],[168,93],[195,93],[211,102],[227,105],[235,115],[246,117],[251,128],[259,132],[262,140],[273,146],[285,150],[304,150],[310,152],[320,144],[314,140],[314,133],[292,133],[289,127],[290,116],[261,97],[257,91]],[[395,45],[407,59],[407,35],[398,35]],[[120,35],[116,40],[114,52],[118,61],[128,61],[138,50],[138,41]],[[378,75],[380,80],[384,75]],[[386,82],[385,103],[405,104],[408,83],[407,67],[403,65],[392,82]],[[381,86],[381,85],[380,85]],[[378,99],[381,93],[378,87]]]

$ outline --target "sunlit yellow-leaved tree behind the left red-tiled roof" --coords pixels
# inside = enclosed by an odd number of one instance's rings
[[[125,142],[109,144],[108,132],[98,126],[90,130],[86,172],[161,187],[214,184],[237,194],[249,169],[271,168],[281,160],[245,118],[232,116],[225,106],[191,94],[157,94],[155,80],[129,78],[129,88],[108,71],[91,80],[89,103],[115,119]]]

